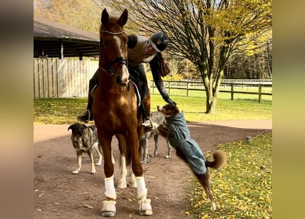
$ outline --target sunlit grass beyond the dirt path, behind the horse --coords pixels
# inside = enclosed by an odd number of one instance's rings
[[[231,101],[224,94],[219,95],[216,113],[205,114],[206,99],[202,96],[185,96],[171,94],[180,110],[184,111],[186,120],[204,122],[207,120],[259,120],[272,119],[272,101],[250,99],[249,94],[236,94]],[[157,105],[164,105],[160,94],[151,94],[151,112]],[[34,99],[34,123],[36,124],[71,124],[76,122],[77,115],[86,110],[86,98]]]

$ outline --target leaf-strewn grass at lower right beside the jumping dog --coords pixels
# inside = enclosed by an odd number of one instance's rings
[[[271,133],[252,138],[250,144],[242,140],[219,145],[218,149],[228,155],[226,166],[211,170],[211,186],[219,209],[210,210],[202,186],[194,182],[188,194],[192,209],[186,214],[202,219],[272,218],[271,145]]]

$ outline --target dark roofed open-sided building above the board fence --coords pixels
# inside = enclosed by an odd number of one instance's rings
[[[99,56],[98,34],[34,16],[34,57],[90,56]]]

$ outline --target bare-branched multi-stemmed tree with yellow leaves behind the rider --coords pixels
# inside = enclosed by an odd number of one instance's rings
[[[206,89],[206,113],[214,114],[225,65],[237,49],[256,51],[271,29],[271,0],[114,0],[129,23],[150,36],[169,35],[169,53],[190,60]]]

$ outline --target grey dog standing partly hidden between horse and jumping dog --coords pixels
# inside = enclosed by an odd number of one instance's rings
[[[149,132],[145,132],[140,140],[140,146],[142,147],[143,150],[143,158],[142,158],[142,163],[146,164],[149,158],[148,154],[148,140],[154,137],[154,142],[155,142],[155,149],[154,149],[154,154],[151,155],[152,157],[156,157],[158,155],[158,148],[159,148],[159,143],[158,143],[158,138],[159,138],[159,131],[158,131],[158,126],[159,125],[164,125],[166,123],[165,116],[156,111],[156,112],[151,112],[150,114],[150,119],[153,124],[153,130]],[[171,144],[169,144],[169,140],[167,140],[167,155],[165,158],[169,159],[171,158]]]

